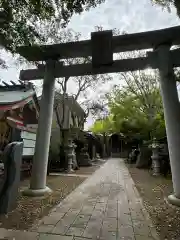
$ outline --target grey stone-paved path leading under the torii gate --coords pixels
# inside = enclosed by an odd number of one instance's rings
[[[0,230],[0,239],[158,240],[121,159],[109,159],[31,232]],[[10,237],[10,238],[8,238]]]

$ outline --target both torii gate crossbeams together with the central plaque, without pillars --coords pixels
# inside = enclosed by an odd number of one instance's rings
[[[180,26],[120,36],[112,36],[112,31],[94,32],[91,33],[91,40],[54,45],[22,46],[18,48],[18,51],[29,61],[55,60],[56,67],[53,74],[57,78],[135,71],[147,67],[156,69],[158,62],[155,52],[148,54],[147,57],[115,61],[113,53],[155,49],[163,44],[169,46],[180,44]],[[180,66],[180,49],[170,51],[170,55],[173,67]],[[87,56],[92,56],[92,63],[63,65],[63,62],[59,62],[65,58]],[[44,76],[45,65],[41,65],[38,69],[20,72],[21,80],[42,79]]]

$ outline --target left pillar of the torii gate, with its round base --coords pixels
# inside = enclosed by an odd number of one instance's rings
[[[24,195],[27,196],[42,196],[51,192],[46,186],[46,177],[55,93],[54,71],[55,61],[48,60],[45,65],[30,188],[24,191]]]

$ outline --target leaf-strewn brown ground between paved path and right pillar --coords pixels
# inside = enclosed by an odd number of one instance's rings
[[[180,208],[171,206],[166,201],[167,196],[173,192],[171,178],[153,177],[148,170],[127,166],[160,239],[180,239]]]

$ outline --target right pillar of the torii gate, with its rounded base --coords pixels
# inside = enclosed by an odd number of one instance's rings
[[[180,103],[169,50],[169,45],[161,45],[156,49],[174,189],[168,200],[180,206]]]

